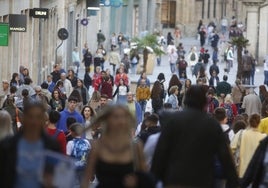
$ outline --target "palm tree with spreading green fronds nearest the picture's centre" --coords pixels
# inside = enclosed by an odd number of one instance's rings
[[[143,71],[147,71],[148,55],[154,53],[156,56],[164,54],[161,50],[160,45],[157,41],[157,36],[153,34],[147,34],[144,37],[138,38],[135,37],[132,39],[132,42],[135,44],[135,48],[131,51],[139,51],[143,53]]]

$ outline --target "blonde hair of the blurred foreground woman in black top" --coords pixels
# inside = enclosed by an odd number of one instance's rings
[[[126,117],[128,119],[127,121],[127,128],[128,128],[128,132],[131,135],[132,133],[132,129],[135,127],[136,125],[136,120],[133,117],[133,115],[130,113],[129,109],[125,106],[122,105],[110,105],[105,107],[105,109],[103,109],[101,111],[101,113],[93,119],[92,121],[92,128],[93,130],[96,129],[97,127],[101,127],[103,130],[104,134],[107,134],[109,129],[108,129],[108,122],[107,120],[109,119],[110,116],[112,116],[112,114],[116,111],[116,110],[123,110],[126,114]],[[87,129],[85,130],[87,131]]]

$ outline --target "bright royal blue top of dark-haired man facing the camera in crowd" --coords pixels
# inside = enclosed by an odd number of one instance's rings
[[[66,120],[68,117],[75,118],[78,123],[84,123],[82,115],[80,113],[78,113],[77,111],[69,112],[68,110],[64,110],[60,113],[60,115],[61,116],[60,116],[60,120],[57,124],[57,129],[60,129],[63,132],[67,131]]]

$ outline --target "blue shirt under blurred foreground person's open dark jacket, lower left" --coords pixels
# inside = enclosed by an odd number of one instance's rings
[[[41,140],[28,142],[21,138],[18,143],[18,160],[15,188],[39,188],[43,171],[44,144]]]

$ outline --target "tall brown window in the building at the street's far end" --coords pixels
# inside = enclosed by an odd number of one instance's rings
[[[163,0],[161,5],[161,23],[164,28],[175,28],[176,1]]]

